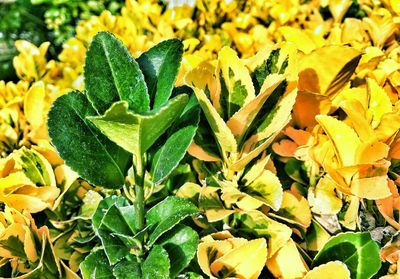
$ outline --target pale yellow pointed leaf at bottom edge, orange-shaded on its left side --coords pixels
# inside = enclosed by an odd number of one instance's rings
[[[276,278],[282,279],[303,278],[308,271],[292,239],[267,260],[267,267]]]

